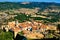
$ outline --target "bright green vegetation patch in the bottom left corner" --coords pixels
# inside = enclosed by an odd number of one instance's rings
[[[0,40],[12,40],[13,34],[11,32],[0,31]]]

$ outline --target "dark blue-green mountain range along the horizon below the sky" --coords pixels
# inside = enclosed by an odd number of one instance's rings
[[[22,4],[22,2],[0,2],[0,10],[19,9],[19,8],[35,8],[41,9],[49,8],[50,6],[60,7],[60,3],[48,3],[48,2],[30,2]]]

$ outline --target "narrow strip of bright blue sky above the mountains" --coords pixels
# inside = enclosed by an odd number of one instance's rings
[[[56,2],[56,3],[60,3],[60,0],[0,0],[0,2]]]

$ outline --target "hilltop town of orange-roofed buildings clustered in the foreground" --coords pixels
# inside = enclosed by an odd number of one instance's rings
[[[2,29],[5,28],[6,32],[9,30],[14,32],[14,37],[16,37],[17,33],[23,32],[24,36],[31,38],[43,38],[43,34],[47,34],[49,30],[57,31],[57,27],[53,25],[45,25],[41,22],[23,22],[18,23],[18,21],[8,22],[8,25],[2,25]],[[44,33],[45,32],[45,33]],[[35,34],[35,35],[34,35]],[[38,35],[39,34],[39,35]],[[34,35],[34,37],[33,37]],[[36,37],[38,36],[38,37]]]

